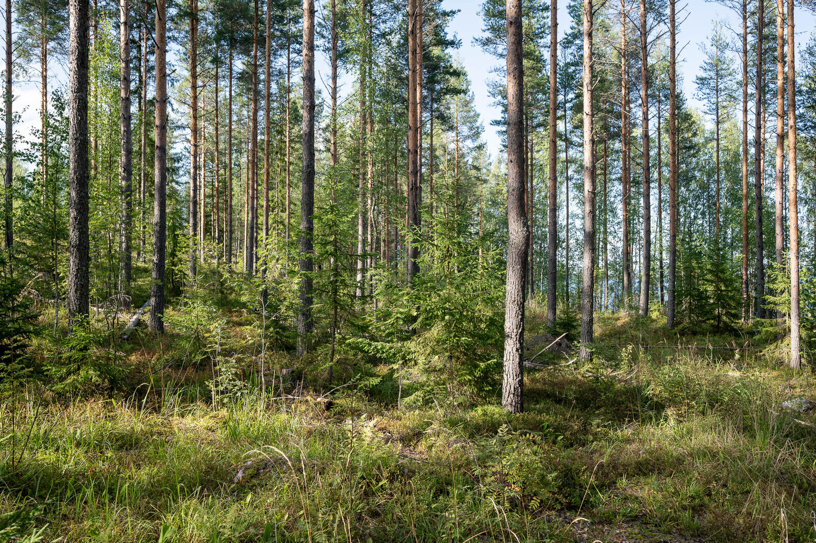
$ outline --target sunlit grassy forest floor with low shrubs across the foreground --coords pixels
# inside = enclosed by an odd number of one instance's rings
[[[410,380],[374,362],[366,386],[341,362],[327,386],[283,348],[263,391],[251,355],[214,382],[172,312],[161,341],[140,325],[87,370],[116,365],[115,390],[4,396],[0,541],[816,537],[816,410],[783,407],[816,383],[772,347],[599,315],[593,362],[540,355],[511,416],[500,391],[406,405]],[[256,316],[219,318],[257,352]],[[552,338],[543,308],[527,338],[528,356]]]

